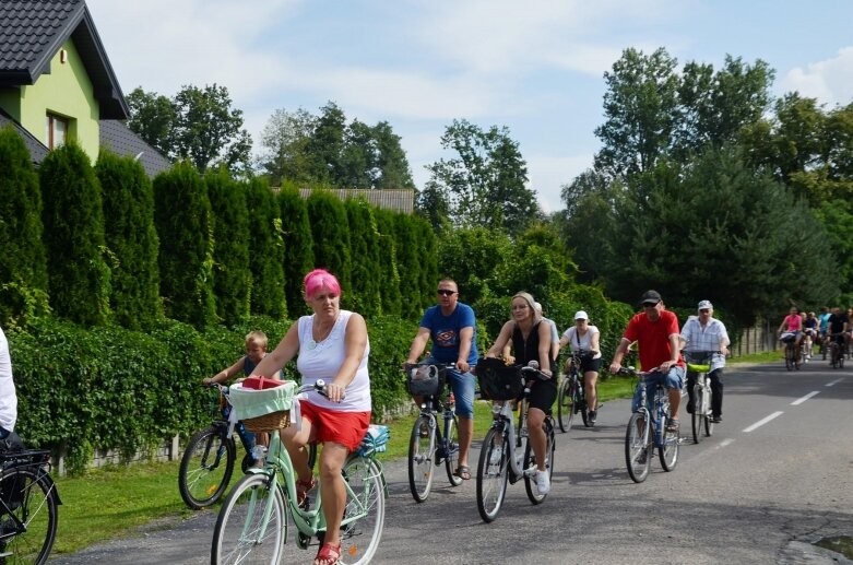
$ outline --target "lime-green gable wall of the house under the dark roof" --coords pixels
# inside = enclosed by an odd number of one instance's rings
[[[68,54],[66,62],[60,61],[60,49],[50,61],[49,74],[43,74],[33,85],[21,87],[16,108],[7,92],[0,93],[0,105],[46,145],[47,115],[68,119],[68,138],[74,140],[94,163],[100,148],[98,102],[73,42],[66,42],[62,49]],[[7,107],[8,102],[11,107]]]

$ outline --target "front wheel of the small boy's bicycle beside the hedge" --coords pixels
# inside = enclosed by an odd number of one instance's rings
[[[236,452],[234,440],[222,427],[210,426],[190,437],[178,471],[178,490],[187,506],[200,510],[225,495]]]

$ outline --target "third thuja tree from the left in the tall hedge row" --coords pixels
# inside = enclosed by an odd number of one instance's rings
[[[95,166],[104,203],[104,236],[115,263],[109,304],[129,329],[150,328],[163,315],[159,301],[159,240],[154,227],[154,191],[142,165],[102,152]]]

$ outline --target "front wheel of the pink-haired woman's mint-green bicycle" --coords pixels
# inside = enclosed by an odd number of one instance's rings
[[[269,519],[264,518],[269,509]],[[247,474],[225,498],[213,529],[211,564],[279,563],[287,538],[282,491],[265,473]]]

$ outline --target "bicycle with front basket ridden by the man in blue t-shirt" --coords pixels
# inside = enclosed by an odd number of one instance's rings
[[[408,489],[418,503],[429,496],[435,466],[441,464],[441,461],[445,462],[450,484],[462,484],[462,478],[455,474],[459,466],[459,421],[453,392],[449,386],[445,386],[447,370],[454,366],[452,363],[404,366],[408,392],[422,398],[420,415],[412,426],[408,442]],[[442,425],[439,425],[439,412]]]

